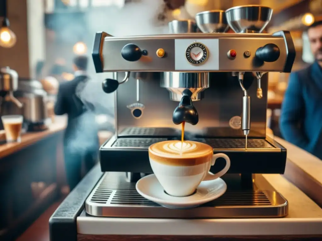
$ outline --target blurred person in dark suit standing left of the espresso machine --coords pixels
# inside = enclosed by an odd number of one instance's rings
[[[87,76],[88,58],[74,59],[75,78],[61,82],[54,107],[56,115],[68,115],[64,135],[64,159],[70,191],[81,181],[82,163],[87,173],[96,163],[99,148],[98,128],[95,124],[93,107],[83,103],[78,96],[79,86],[90,81]]]

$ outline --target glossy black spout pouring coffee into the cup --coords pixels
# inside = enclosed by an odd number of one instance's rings
[[[189,89],[185,89],[182,94],[181,101],[173,112],[172,121],[176,125],[179,125],[182,122],[196,125],[199,121],[199,116],[196,108],[192,104],[192,92]]]

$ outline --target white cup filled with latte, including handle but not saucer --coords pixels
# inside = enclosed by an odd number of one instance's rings
[[[216,174],[209,173],[217,158],[226,160],[226,165]],[[196,141],[167,140],[149,147],[151,168],[164,191],[175,197],[194,194],[202,181],[214,180],[225,174],[230,159],[223,153],[213,154],[213,148]]]

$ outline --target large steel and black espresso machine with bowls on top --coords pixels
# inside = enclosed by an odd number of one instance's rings
[[[104,80],[102,87],[115,98],[116,131],[100,147],[106,173],[85,203],[87,213],[150,218],[287,215],[287,201],[278,192],[256,189],[252,180],[253,174],[282,174],[286,164],[286,149],[266,137],[268,78],[263,74],[290,72],[295,49],[288,31],[261,33],[271,15],[268,7],[238,6],[198,13],[196,23],[171,22],[168,35],[96,34],[96,72],[114,72],[114,79]],[[236,33],[226,33],[229,27]],[[181,126],[174,124],[173,114],[187,90],[199,121],[186,124],[185,138],[230,157],[231,167],[223,176],[228,189],[201,207],[169,210],[141,197],[135,182],[152,173],[151,144],[180,139]],[[220,161],[211,171],[223,168]]]

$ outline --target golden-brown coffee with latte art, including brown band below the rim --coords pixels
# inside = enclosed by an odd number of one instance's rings
[[[210,161],[213,148],[196,141],[161,141],[149,147],[149,157],[165,165],[193,166]]]

